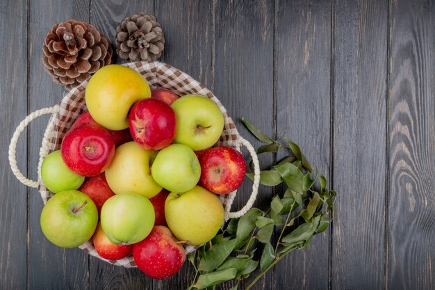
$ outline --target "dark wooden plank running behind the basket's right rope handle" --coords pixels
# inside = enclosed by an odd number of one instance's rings
[[[233,116],[239,134],[255,148],[262,144],[245,129],[241,118],[247,118],[265,134],[273,136],[273,37],[272,1],[217,1],[214,92]],[[247,154],[246,157],[249,160]],[[260,158],[263,167],[270,166],[271,161],[270,154]],[[241,209],[251,192],[252,182],[245,179],[232,209]],[[265,209],[271,198],[270,188],[261,186],[254,206]],[[273,272],[265,275],[252,289],[274,289]],[[239,289],[246,286],[246,282],[240,283]]]

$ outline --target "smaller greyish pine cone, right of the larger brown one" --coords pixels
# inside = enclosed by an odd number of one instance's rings
[[[125,61],[156,61],[165,47],[165,35],[156,17],[138,13],[117,26],[116,46]]]

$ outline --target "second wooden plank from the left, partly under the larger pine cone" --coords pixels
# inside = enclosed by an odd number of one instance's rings
[[[29,26],[29,110],[53,106],[66,90],[44,72],[42,43],[51,26],[68,19],[89,21],[89,1],[30,1]],[[48,117],[32,122],[29,138],[29,172],[37,178],[38,152]],[[74,249],[62,249],[51,244],[42,234],[40,212],[42,199],[36,189],[29,193],[28,289],[89,289],[88,255]]]

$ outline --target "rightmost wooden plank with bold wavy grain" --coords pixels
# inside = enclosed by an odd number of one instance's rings
[[[388,288],[434,289],[435,3],[390,10]]]

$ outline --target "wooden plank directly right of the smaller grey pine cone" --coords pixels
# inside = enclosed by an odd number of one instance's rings
[[[212,1],[156,1],[156,18],[165,33],[161,61],[190,74],[211,89]],[[155,281],[154,289],[187,289],[195,271],[186,261],[181,271],[167,280]]]

